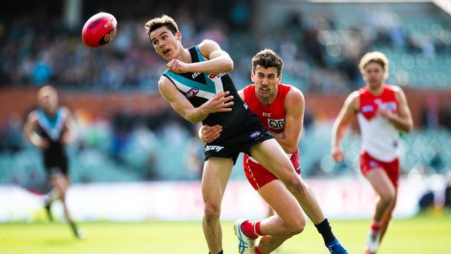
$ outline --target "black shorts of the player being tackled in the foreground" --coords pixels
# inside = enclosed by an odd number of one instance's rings
[[[273,138],[261,124],[256,124],[255,128],[246,129],[248,130],[237,131],[237,135],[224,142],[205,144],[203,149],[205,160],[210,157],[232,158],[235,165],[239,153],[250,154],[250,147]]]

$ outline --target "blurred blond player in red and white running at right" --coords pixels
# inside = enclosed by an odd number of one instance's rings
[[[331,153],[335,161],[343,161],[340,143],[357,116],[362,137],[360,170],[380,197],[366,239],[366,253],[376,253],[396,202],[399,131],[409,132],[413,121],[401,88],[384,83],[389,61],[383,53],[366,53],[359,68],[366,86],[352,92],[341,108],[332,130]]]

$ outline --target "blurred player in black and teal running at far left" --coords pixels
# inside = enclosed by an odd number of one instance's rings
[[[71,111],[58,105],[58,92],[50,85],[37,92],[39,108],[28,114],[24,134],[31,144],[42,150],[44,166],[53,189],[44,198],[49,219],[53,221],[51,203],[57,198],[64,206],[65,217],[77,238],[85,237],[69,214],[66,192],[69,187],[65,146],[75,139],[76,125]]]

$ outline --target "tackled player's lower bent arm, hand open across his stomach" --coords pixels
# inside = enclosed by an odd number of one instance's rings
[[[192,123],[202,121],[207,118],[210,113],[232,111],[232,108],[228,107],[233,105],[233,96],[228,96],[228,94],[230,94],[228,91],[221,91],[207,102],[203,103],[200,107],[194,108],[188,99],[178,92],[176,86],[166,77],[162,76],[160,78],[160,81],[158,81],[158,89],[164,99],[171,103],[172,108]]]

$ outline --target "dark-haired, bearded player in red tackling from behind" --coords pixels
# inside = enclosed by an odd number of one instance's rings
[[[287,158],[290,158],[296,172],[300,174],[298,142],[304,118],[303,93],[296,87],[280,83],[283,61],[271,49],[257,53],[252,59],[252,65],[251,79],[254,83],[240,90],[238,94],[257,115],[266,130],[269,130],[282,146]],[[201,128],[199,136],[203,142],[210,143],[220,137],[221,130],[219,125],[205,125]],[[250,185],[273,208],[275,214],[253,223],[239,220],[235,225],[235,232],[239,239],[239,253],[273,252],[285,240],[303,231],[306,224],[303,209],[323,236],[330,252],[346,253],[334,237],[318,203],[311,203],[311,206],[307,207],[300,205],[277,176],[248,154],[244,155],[244,171]],[[303,183],[303,186],[307,188],[310,195],[314,196],[309,185]],[[260,224],[261,231],[266,232],[266,235],[262,236],[262,233],[255,232],[256,223]],[[241,235],[241,232],[244,235]],[[244,237],[250,238],[250,241],[259,237],[255,249],[252,249],[252,244],[246,244],[248,241]]]

